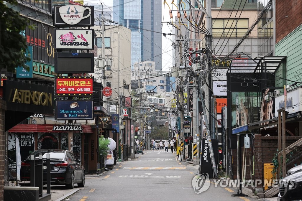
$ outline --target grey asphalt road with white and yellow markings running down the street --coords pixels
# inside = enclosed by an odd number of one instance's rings
[[[197,166],[176,161],[176,154],[164,150],[144,151],[136,159],[118,163],[112,171],[99,177],[86,177],[85,187],[66,200],[258,200],[252,197],[233,197],[235,188],[210,187],[195,193],[192,179]]]

